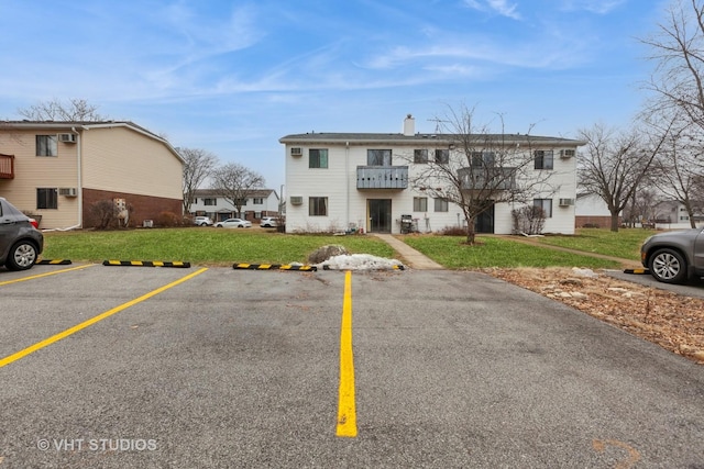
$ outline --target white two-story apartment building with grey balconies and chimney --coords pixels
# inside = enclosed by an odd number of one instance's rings
[[[466,160],[461,141],[453,135],[416,133],[410,115],[398,134],[306,133],[282,137],[279,142],[286,148],[286,232],[355,227],[399,233],[402,220],[409,215],[420,232],[463,226],[463,212],[458,205],[429,198],[411,183],[427,167],[428,158],[435,163]],[[542,175],[547,183],[544,192],[535,193],[530,201],[492,203],[479,217],[476,231],[510,234],[512,211],[534,204],[544,210],[544,233],[573,234],[575,155],[584,143],[519,134],[496,135],[494,141],[510,146],[512,152],[525,152],[524,157],[531,159],[530,170]],[[466,166],[458,170],[460,178],[474,175],[471,165]]]

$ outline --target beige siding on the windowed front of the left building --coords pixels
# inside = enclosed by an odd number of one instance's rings
[[[0,153],[14,155],[14,179],[0,179],[0,196],[18,209],[42,215],[41,227],[68,227],[78,223],[78,198],[58,197],[56,210],[36,208],[37,188],[77,188],[77,144],[57,143],[57,156],[36,156],[36,135],[56,130],[0,133]]]

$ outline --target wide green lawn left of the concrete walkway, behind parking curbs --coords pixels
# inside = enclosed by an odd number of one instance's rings
[[[350,253],[394,257],[374,236],[293,235],[260,230],[188,227],[111,232],[50,232],[44,234],[45,259],[101,263],[113,260],[188,261],[198,265],[233,263],[306,263],[310,253],[340,244]]]

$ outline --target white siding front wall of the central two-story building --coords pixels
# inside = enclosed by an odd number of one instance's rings
[[[427,145],[427,144],[426,144]],[[301,147],[301,156],[292,156],[290,147]],[[286,231],[287,232],[331,232],[344,231],[348,227],[361,227],[370,231],[367,200],[388,199],[392,201],[392,233],[400,233],[400,215],[410,214],[417,220],[421,232],[437,232],[447,226],[463,226],[464,217],[459,206],[450,204],[447,212],[435,212],[435,200],[428,198],[428,211],[414,212],[414,198],[427,197],[422,191],[407,189],[358,189],[356,167],[366,165],[366,150],[370,148],[392,149],[393,166],[408,166],[409,178],[417,165],[413,161],[416,148],[435,149],[421,142],[407,145],[391,144],[340,144],[286,145]],[[310,148],[328,149],[328,168],[309,168],[308,150]],[[557,153],[557,152],[556,152]],[[575,199],[575,158],[554,157],[554,169],[551,171],[550,188],[546,187],[542,198],[553,199],[552,217],[546,220],[546,233],[574,233],[574,206],[559,206],[559,199]],[[552,193],[554,192],[554,193]],[[302,198],[302,204],[294,205],[292,198]],[[309,216],[309,198],[327,197],[328,215]],[[494,232],[510,234],[513,231],[512,209],[519,204],[497,204],[495,206]]]

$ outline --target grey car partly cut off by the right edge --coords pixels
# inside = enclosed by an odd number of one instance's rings
[[[704,228],[659,233],[640,246],[640,261],[656,280],[684,283],[704,276]]]

